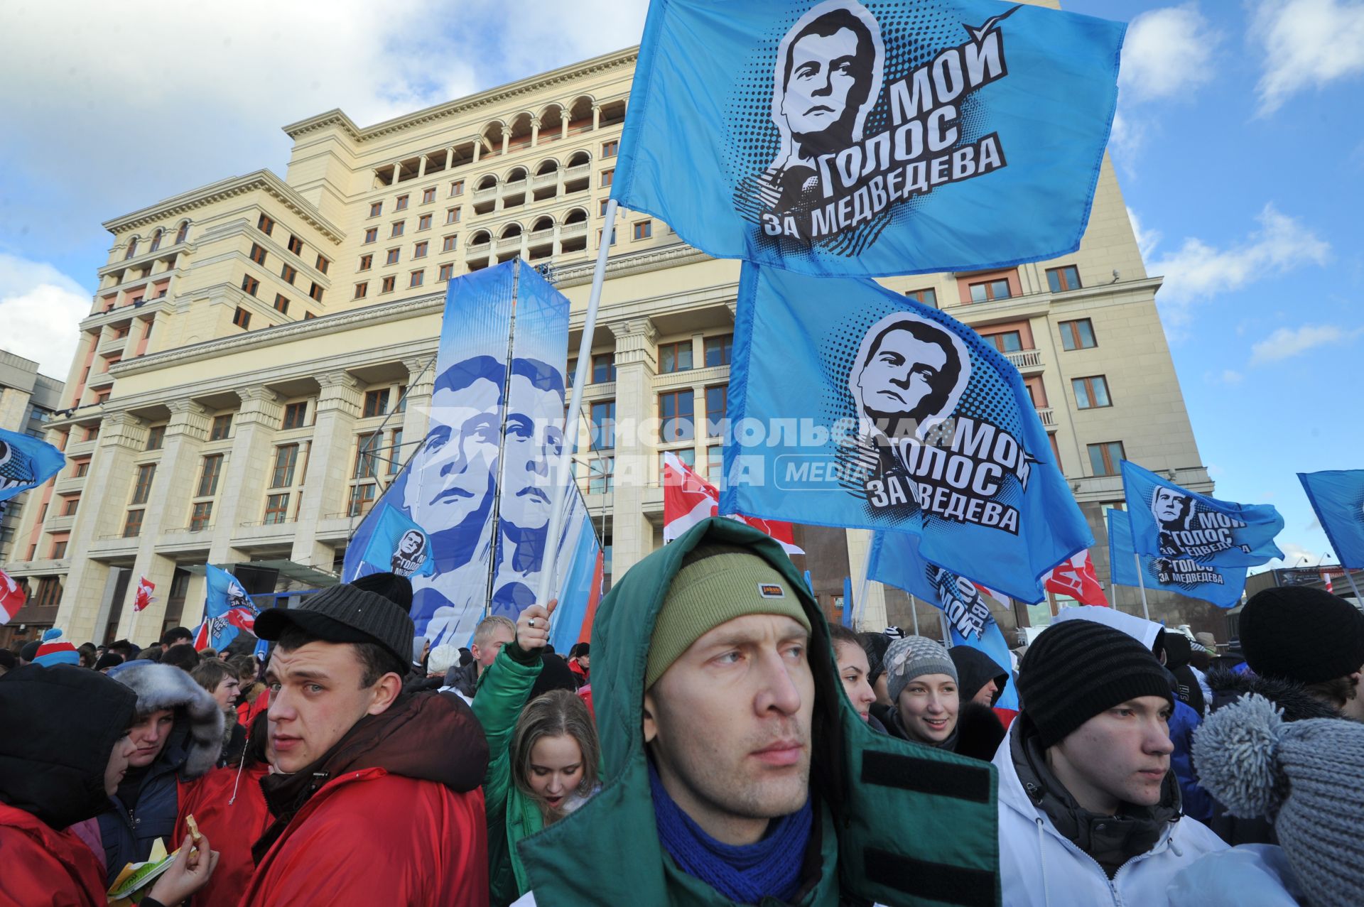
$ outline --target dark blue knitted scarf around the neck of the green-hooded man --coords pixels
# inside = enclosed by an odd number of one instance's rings
[[[788,902],[801,891],[801,866],[814,825],[809,799],[795,813],[773,820],[756,844],[723,844],[668,797],[653,762],[649,790],[659,840],[682,872],[739,904],[756,904],[764,897]]]

